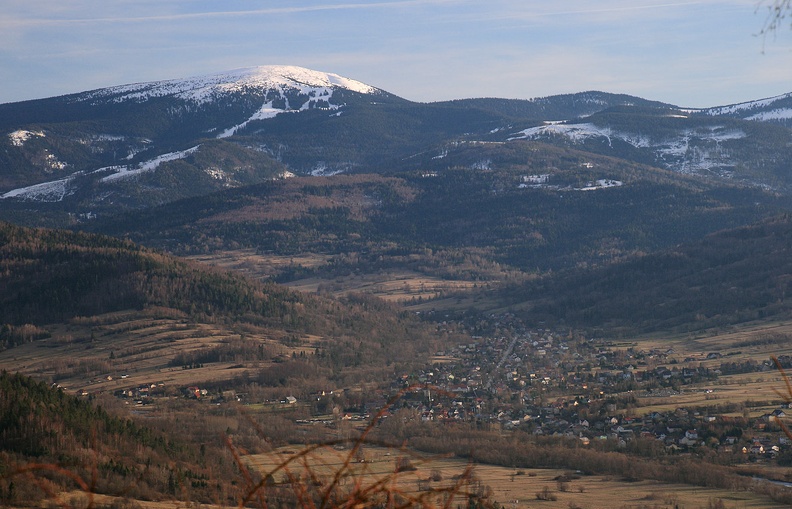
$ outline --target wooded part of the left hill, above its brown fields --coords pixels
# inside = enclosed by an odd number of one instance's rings
[[[356,370],[381,375],[392,363],[415,362],[448,340],[409,314],[364,295],[337,301],[301,294],[129,241],[8,223],[0,223],[0,288],[2,348],[48,337],[52,324],[91,322],[86,317],[121,310],[154,310],[157,316],[239,331],[237,337],[246,330],[296,344],[311,337],[310,351],[319,355],[310,362],[320,379],[331,372],[354,376]],[[124,331],[121,327],[113,334]],[[225,351],[242,360],[261,360],[259,343],[249,343],[234,343]],[[134,351],[133,344],[124,348]],[[107,353],[96,355],[104,361]]]

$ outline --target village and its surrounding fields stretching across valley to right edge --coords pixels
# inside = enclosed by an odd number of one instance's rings
[[[372,419],[465,422],[480,429],[565,437],[581,446],[597,441],[612,449],[741,455],[744,461],[779,464],[792,460],[784,425],[790,402],[782,393],[771,390],[766,400],[743,401],[724,395],[751,375],[748,380],[767,380],[783,389],[779,369],[792,366],[788,355],[757,361],[741,351],[645,349],[570,330],[529,328],[508,314],[491,316],[489,324],[496,334],[474,335],[474,342],[436,352],[425,369],[402,373],[387,387],[328,388],[252,401],[222,384],[175,388],[155,382],[114,395],[141,407],[173,397],[218,406],[233,402],[291,412],[297,426],[334,429],[347,421],[363,428]],[[475,332],[476,325],[448,321],[438,328]],[[732,379],[740,376],[743,381]]]

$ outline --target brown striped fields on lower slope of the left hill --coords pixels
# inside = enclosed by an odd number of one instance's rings
[[[55,380],[72,393],[112,392],[152,383],[164,384],[167,392],[228,380],[272,364],[266,360],[215,362],[197,369],[169,366],[181,353],[223,345],[239,339],[241,332],[163,314],[168,313],[112,313],[48,327],[51,338],[0,352],[0,369]],[[287,347],[264,329],[246,326],[242,333],[246,341],[266,345],[275,355],[309,353],[318,340],[304,337],[299,346]]]

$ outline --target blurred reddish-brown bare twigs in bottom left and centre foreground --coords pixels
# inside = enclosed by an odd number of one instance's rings
[[[399,396],[400,397],[401,393]],[[266,471],[253,471],[244,460],[245,451],[235,445],[231,439],[226,438],[227,450],[233,458],[238,477],[231,483],[237,497],[237,507],[302,507],[309,509],[324,508],[352,508],[352,507],[455,507],[458,505],[474,505],[476,507],[491,507],[491,489],[482,484],[473,474],[472,464],[444,485],[431,485],[430,480],[425,480],[422,490],[418,493],[404,488],[408,483],[401,482],[404,476],[412,475],[411,472],[419,467],[431,466],[431,459],[418,456],[415,453],[401,449],[400,456],[394,462],[392,472],[384,476],[366,476],[368,462],[361,462],[364,457],[362,449],[365,445],[384,446],[387,444],[375,443],[367,436],[381,420],[387,409],[392,406],[392,400],[371,421],[368,427],[358,438],[346,440],[326,441],[310,445],[287,455],[285,459],[279,457],[277,464]],[[258,429],[262,441],[265,440],[264,432]],[[343,452],[338,452],[341,449]],[[341,454],[340,466],[329,473],[322,473],[323,460],[320,453],[336,451]],[[90,463],[91,460],[88,460]],[[54,504],[65,509],[137,509],[138,502],[128,497],[116,498],[109,506],[98,504],[94,494],[96,486],[96,459],[94,464],[83,465],[83,475],[74,473],[56,464],[28,463],[19,467],[9,467],[0,475],[0,487],[7,493],[6,487],[14,480],[25,478],[31,482],[25,486],[33,486],[41,494],[42,499],[47,499],[49,505]],[[354,467],[354,468],[353,468]],[[442,480],[440,470],[433,469],[431,481]],[[60,493],[60,485],[51,482],[49,476],[58,476],[76,486],[83,495],[72,494],[64,500]],[[86,480],[88,479],[88,480]],[[280,480],[280,482],[276,480]],[[21,486],[20,486],[21,487]],[[15,488],[19,490],[19,488]],[[218,490],[220,487],[218,486]],[[225,491],[225,490],[221,490]],[[175,493],[178,495],[179,490]],[[27,494],[17,493],[19,495]],[[0,495],[2,496],[2,495]],[[160,494],[161,496],[161,494]],[[31,501],[33,498],[25,498]],[[2,505],[3,500],[0,500]],[[43,500],[42,500],[43,502]]]

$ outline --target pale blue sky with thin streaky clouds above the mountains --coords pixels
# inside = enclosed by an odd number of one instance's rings
[[[257,65],[421,102],[600,90],[682,107],[792,92],[771,0],[2,0],[0,103]]]

